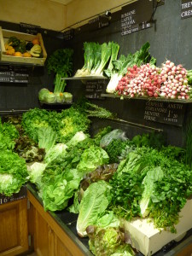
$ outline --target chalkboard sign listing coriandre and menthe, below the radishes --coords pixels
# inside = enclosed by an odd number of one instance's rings
[[[143,119],[169,125],[183,125],[185,105],[176,102],[145,103]]]

